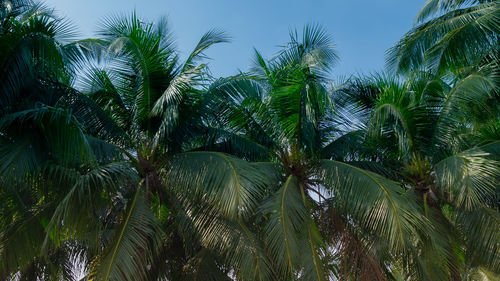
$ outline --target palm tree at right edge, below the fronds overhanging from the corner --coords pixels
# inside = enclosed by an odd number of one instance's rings
[[[368,124],[347,155],[377,155],[415,192],[447,241],[444,251],[414,253],[422,261],[413,270],[420,272],[403,276],[467,280],[473,273],[494,280],[499,273],[497,73],[480,67],[451,83],[428,73],[407,81],[375,76],[342,91],[345,104]]]

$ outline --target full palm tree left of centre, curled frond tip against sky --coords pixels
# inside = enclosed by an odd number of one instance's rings
[[[205,139],[223,132],[212,129],[206,117],[208,74],[199,61],[227,36],[207,32],[183,63],[165,20],[152,24],[135,14],[111,17],[99,36],[83,46],[93,51],[89,58],[96,64],[87,66],[76,82],[93,101],[79,109],[89,115],[86,125],[103,150],[128,162],[138,183],[112,198],[123,203],[110,202],[112,215],[93,234],[101,236],[103,246],[90,255],[87,278],[228,280],[228,251],[200,242],[200,232],[221,213],[229,220],[238,210],[250,212],[267,176],[230,155],[206,152],[204,146]],[[92,105],[105,116],[94,116]],[[193,206],[205,210],[195,213]],[[193,220],[206,229],[194,231]]]

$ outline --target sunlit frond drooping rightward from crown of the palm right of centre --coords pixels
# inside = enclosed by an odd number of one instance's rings
[[[331,160],[321,161],[320,176],[334,193],[339,211],[386,239],[391,249],[408,251],[410,237],[430,227],[407,191],[396,182]]]

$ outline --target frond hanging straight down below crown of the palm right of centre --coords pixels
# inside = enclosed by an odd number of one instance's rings
[[[264,228],[267,249],[281,278],[327,280],[325,244],[310,214],[313,201],[303,188],[290,175],[261,207],[269,216]]]

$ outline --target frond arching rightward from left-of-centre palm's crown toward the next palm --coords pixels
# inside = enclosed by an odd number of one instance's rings
[[[169,163],[165,180],[172,188],[205,194],[229,218],[250,216],[272,184],[249,162],[220,152],[187,152]]]

